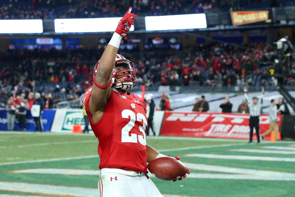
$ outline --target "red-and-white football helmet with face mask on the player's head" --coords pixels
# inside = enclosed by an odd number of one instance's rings
[[[99,61],[96,63],[93,71],[93,80],[95,80],[98,65]],[[115,66],[111,74],[112,86],[120,90],[131,90],[136,84],[135,76],[136,72],[133,63],[122,55],[117,54]]]

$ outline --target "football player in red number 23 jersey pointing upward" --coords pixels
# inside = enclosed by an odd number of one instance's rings
[[[147,163],[165,155],[146,143],[146,104],[139,96],[127,92],[136,83],[135,69],[131,61],[117,54],[121,39],[127,39],[136,17],[130,7],[120,20],[96,63],[93,85],[82,99],[99,141],[100,197],[162,197],[147,175]]]

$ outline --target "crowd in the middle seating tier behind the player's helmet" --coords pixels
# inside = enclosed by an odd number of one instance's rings
[[[93,66],[101,57],[97,50],[7,50],[0,54],[0,103],[15,88],[16,94],[31,91],[52,93],[54,103],[73,100],[92,82]],[[199,45],[186,51],[133,53],[120,51],[134,62],[137,84],[145,86],[276,86],[275,78],[264,77],[268,69],[259,68],[262,53],[268,51],[264,43],[243,47],[228,44]],[[142,56],[144,55],[144,56]],[[291,73],[295,74],[292,64]],[[285,78],[285,85],[294,85],[293,78]]]

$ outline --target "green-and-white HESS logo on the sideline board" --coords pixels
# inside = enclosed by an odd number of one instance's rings
[[[82,111],[67,111],[64,123],[62,124],[62,130],[72,130],[73,125],[76,124],[85,125]]]

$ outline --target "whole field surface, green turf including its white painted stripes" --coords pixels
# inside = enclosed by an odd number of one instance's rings
[[[180,155],[191,169],[175,183],[151,177],[164,196],[295,196],[294,142],[148,137],[147,143]],[[0,132],[0,197],[98,196],[98,175],[64,173],[99,173],[97,144],[93,134]]]

